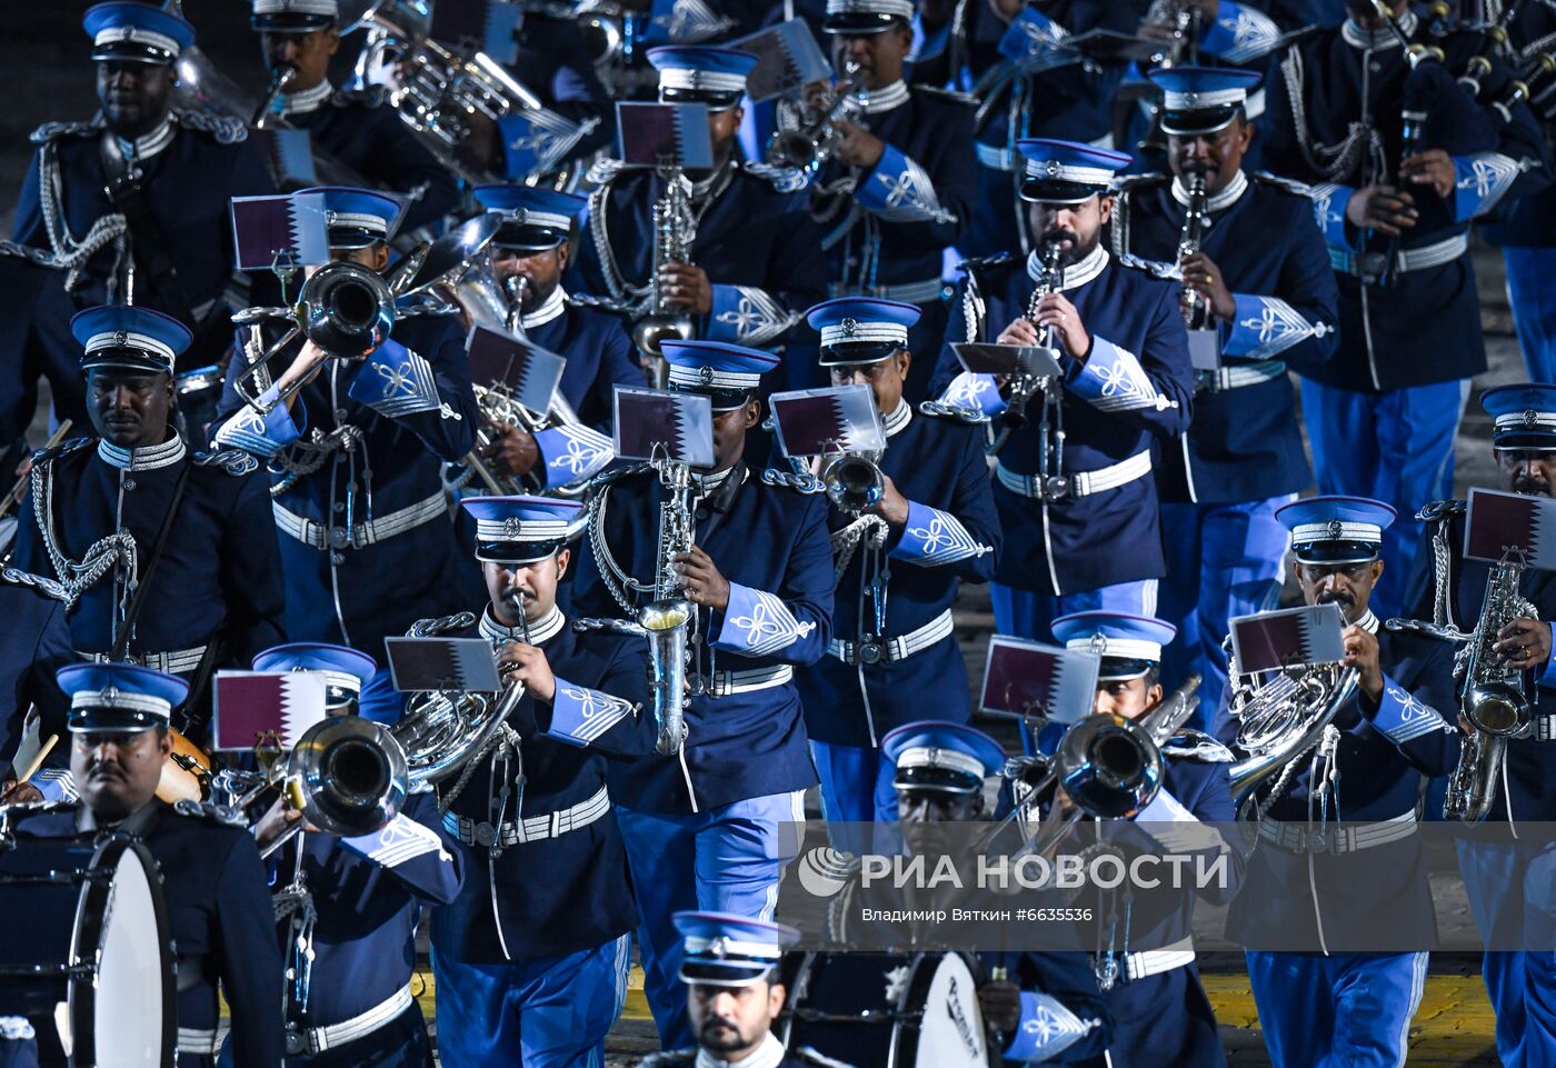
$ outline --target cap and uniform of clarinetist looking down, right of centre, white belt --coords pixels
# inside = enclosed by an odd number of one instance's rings
[[[1106,195],[1117,153],[1063,142],[1022,142],[1027,181],[1022,199],[1077,202]],[[1025,269],[1022,269],[1022,266]],[[988,338],[1025,314],[1043,265],[1005,260],[963,282],[963,300]],[[1150,478],[1151,439],[1172,439],[1189,425],[1193,378],[1178,288],[1099,244],[1063,268],[1058,286],[1092,336],[1085,361],[1066,357],[1058,500],[1043,500],[1036,422],[1011,433],[996,469],[994,504],[1005,542],[994,573],[994,617],[1001,634],[1041,638],[1066,612],[1106,609],[1148,615],[1164,571]],[[955,325],[949,341],[982,341]],[[955,357],[940,357],[941,378]],[[996,414],[993,375],[958,375],[944,395]],[[1035,399],[1033,403],[1041,403]]]

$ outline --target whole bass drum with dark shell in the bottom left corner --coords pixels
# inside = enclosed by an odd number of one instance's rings
[[[173,1068],[177,1038],[168,911],[151,853],[100,842],[17,839],[0,852],[0,1015],[28,1017],[40,1052],[70,1068]]]

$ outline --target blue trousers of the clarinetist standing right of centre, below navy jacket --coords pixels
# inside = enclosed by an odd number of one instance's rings
[[[1281,596],[1291,536],[1274,512],[1296,500],[1284,494],[1232,504],[1162,504],[1167,576],[1156,615],[1178,627],[1162,654],[1162,682],[1175,690],[1198,673],[1200,710],[1190,727],[1211,730],[1226,688],[1226,621],[1273,609]]]

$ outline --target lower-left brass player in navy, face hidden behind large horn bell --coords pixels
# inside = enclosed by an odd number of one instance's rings
[[[255,671],[317,671],[331,715],[350,715],[378,665],[335,645],[266,649]],[[254,828],[260,848],[302,811],[277,800]],[[437,799],[411,794],[387,827],[355,838],[305,825],[269,858],[286,981],[286,1065],[349,1059],[370,1068],[433,1068],[426,1021],[411,996],[423,908],[459,894],[464,856],[442,834]]]

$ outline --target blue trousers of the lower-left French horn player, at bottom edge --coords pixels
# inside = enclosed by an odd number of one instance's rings
[[[448,1068],[602,1068],[630,968],[629,934],[510,964],[464,964],[434,943],[439,1057]]]

